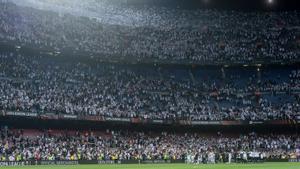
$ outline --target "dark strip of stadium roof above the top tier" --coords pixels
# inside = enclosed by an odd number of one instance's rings
[[[214,8],[226,10],[282,11],[299,10],[299,0],[127,0],[130,5],[160,5],[186,9]]]

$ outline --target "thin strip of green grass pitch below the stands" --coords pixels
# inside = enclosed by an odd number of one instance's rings
[[[22,166],[1,169],[300,169],[300,163],[263,164],[144,164],[144,165],[73,165],[73,166]]]

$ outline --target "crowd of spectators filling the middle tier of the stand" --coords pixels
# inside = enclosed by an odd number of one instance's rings
[[[286,80],[278,81],[268,80],[272,74],[255,80],[253,74],[239,74],[239,70],[228,73],[228,78],[208,75],[206,80],[186,73],[182,76],[187,79],[181,80],[168,78],[170,73],[163,75],[156,66],[16,53],[2,53],[0,61],[0,109],[4,111],[204,121],[293,120],[300,115],[295,70],[282,73]],[[238,74],[240,80],[233,77]],[[236,84],[243,79],[245,83]]]

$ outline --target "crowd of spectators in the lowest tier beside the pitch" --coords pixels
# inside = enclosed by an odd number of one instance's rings
[[[28,135],[24,130],[1,129],[0,161],[30,160],[187,160],[187,156],[216,155],[216,161],[232,161],[242,152],[259,153],[259,158],[299,158],[296,135],[201,136],[200,134],[144,133],[129,131],[54,133]],[[201,161],[203,162],[203,161]]]

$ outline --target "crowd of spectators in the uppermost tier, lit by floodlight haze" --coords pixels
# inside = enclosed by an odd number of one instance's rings
[[[0,2],[0,41],[19,46],[141,62],[299,60],[298,11],[189,11],[90,1],[33,1],[24,7],[25,2],[14,2],[18,5]]]

